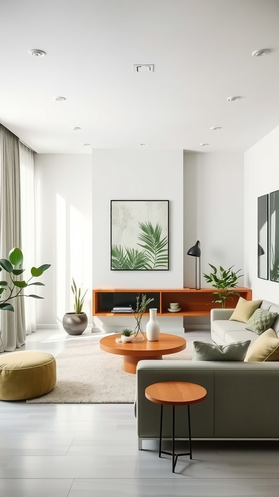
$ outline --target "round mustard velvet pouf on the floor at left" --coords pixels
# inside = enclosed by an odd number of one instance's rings
[[[38,350],[0,357],[0,400],[21,401],[49,393],[56,385],[56,360]]]

